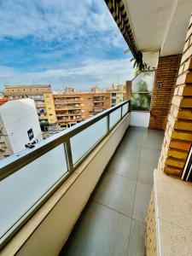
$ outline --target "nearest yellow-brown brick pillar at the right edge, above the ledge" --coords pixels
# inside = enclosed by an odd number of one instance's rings
[[[192,143],[192,17],[168,116],[159,168],[181,177]]]

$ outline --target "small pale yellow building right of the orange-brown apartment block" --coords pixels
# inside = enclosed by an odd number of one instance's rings
[[[106,91],[111,93],[112,107],[125,101],[125,84],[112,84],[106,89]]]

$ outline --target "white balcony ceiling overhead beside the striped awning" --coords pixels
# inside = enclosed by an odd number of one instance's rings
[[[137,49],[182,53],[192,11],[191,0],[124,0]]]

